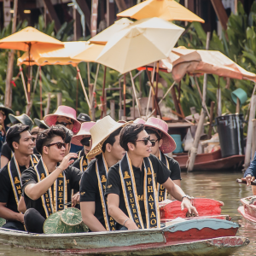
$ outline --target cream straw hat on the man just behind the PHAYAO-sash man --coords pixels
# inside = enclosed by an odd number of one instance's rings
[[[116,122],[109,115],[97,121],[96,125],[93,125],[90,129],[92,145],[86,157],[91,159],[97,154],[101,154],[102,144],[108,139],[109,135],[124,125],[126,124]]]

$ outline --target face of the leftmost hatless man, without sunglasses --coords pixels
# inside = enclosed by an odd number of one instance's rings
[[[13,143],[13,147],[20,154],[30,155],[33,154],[34,143],[32,141],[32,135],[29,131],[23,131],[20,133],[20,143]]]

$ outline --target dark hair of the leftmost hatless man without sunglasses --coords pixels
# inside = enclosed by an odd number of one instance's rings
[[[9,130],[7,131],[6,143],[8,144],[9,148],[12,149],[13,152],[15,152],[13,142],[20,143],[20,133],[23,131],[29,131],[29,126],[23,125],[21,123],[9,127]]]

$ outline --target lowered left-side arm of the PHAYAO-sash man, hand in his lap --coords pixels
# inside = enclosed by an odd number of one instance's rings
[[[108,194],[108,214],[119,224],[125,223],[128,230],[138,230],[137,224],[119,208],[119,195]]]

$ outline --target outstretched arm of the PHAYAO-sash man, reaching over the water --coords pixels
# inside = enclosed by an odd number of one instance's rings
[[[187,208],[189,213],[194,212],[195,215],[198,216],[198,212],[196,211],[196,208],[191,205],[190,200],[187,197],[183,197],[185,195],[185,193],[183,192],[183,189],[181,189],[179,186],[173,183],[170,177],[168,177],[166,182],[163,183],[162,185],[167,189],[170,195],[172,195],[178,201],[182,202],[181,203],[182,211],[184,208]]]

